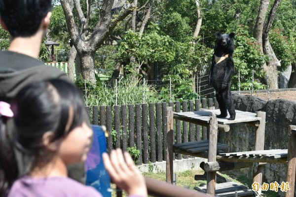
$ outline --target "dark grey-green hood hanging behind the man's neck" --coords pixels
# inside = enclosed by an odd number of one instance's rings
[[[18,91],[41,79],[70,80],[61,70],[16,52],[0,52],[0,101],[10,102]]]

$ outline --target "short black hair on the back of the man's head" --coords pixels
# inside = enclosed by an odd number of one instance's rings
[[[12,38],[33,36],[51,9],[51,0],[0,0],[0,17]]]

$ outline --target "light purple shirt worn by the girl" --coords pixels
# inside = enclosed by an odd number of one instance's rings
[[[13,183],[8,197],[102,197],[102,195],[93,187],[85,186],[68,177],[24,176]]]

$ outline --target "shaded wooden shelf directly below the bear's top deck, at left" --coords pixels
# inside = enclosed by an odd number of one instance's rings
[[[217,143],[217,149],[226,149],[229,145]],[[173,151],[178,152],[178,150],[190,153],[201,153],[209,150],[209,140],[201,140],[196,142],[186,142],[173,145]],[[184,153],[183,153],[184,154]]]

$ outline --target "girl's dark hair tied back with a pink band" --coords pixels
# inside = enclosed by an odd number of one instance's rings
[[[84,103],[80,90],[61,79],[42,80],[25,86],[12,106],[15,108],[13,140],[7,139],[9,131],[5,128],[5,119],[0,118],[0,196],[7,193],[17,174],[28,173],[37,159],[38,162],[49,159],[42,143],[45,132],[52,131],[52,141],[55,141],[83,121]],[[66,131],[70,109],[73,109],[74,118]],[[26,163],[29,168],[23,172],[18,173],[13,147],[30,158],[31,163]]]

